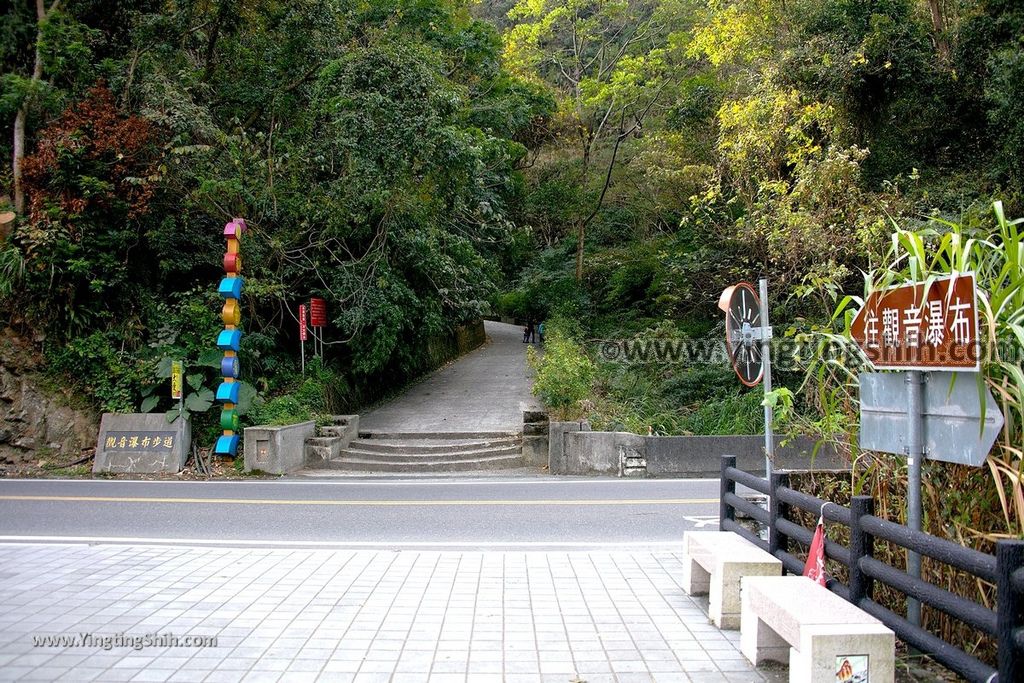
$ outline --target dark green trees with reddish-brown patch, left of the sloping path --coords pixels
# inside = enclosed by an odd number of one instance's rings
[[[43,9],[0,16],[3,158],[25,129],[20,178],[8,166],[0,183],[27,197],[0,303],[101,408],[164,393],[169,356],[206,395],[236,215],[251,227],[243,373],[267,397],[303,391],[309,296],[330,302],[315,375],[330,401],[303,410],[380,395],[424,369],[428,338],[484,311],[521,242],[517,167],[553,100],[503,70],[499,32],[463,3]]]

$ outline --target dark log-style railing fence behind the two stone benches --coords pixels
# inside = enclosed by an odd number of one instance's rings
[[[737,496],[737,483],[767,496],[768,509]],[[846,508],[794,490],[788,484],[786,472],[774,472],[770,479],[763,479],[737,470],[734,456],[723,456],[719,527],[723,531],[739,533],[777,557],[785,571],[799,574],[804,570],[804,561],[790,553],[790,543],[796,541],[808,547],[813,531],[793,521],[788,513],[793,508],[799,508],[815,516],[823,514],[825,519],[850,528],[849,547],[833,541],[825,542],[825,555],[849,570],[849,582],[843,584],[829,579],[829,590],[881,621],[907,645],[926,652],[969,681],[1024,681],[1024,541],[999,541],[995,555],[987,555],[876,517],[872,514],[874,502],[869,496],[854,496],[850,507]],[[765,525],[768,540],[763,540],[737,522],[736,511]],[[951,593],[876,559],[876,539],[956,567],[995,586],[997,608],[992,609]],[[876,602],[872,599],[876,582],[995,638],[997,668],[993,669]]]

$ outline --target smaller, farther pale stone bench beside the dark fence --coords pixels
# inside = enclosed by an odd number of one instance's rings
[[[739,628],[741,577],[778,577],[782,563],[732,531],[683,535],[683,590],[708,595],[708,615],[720,629]]]

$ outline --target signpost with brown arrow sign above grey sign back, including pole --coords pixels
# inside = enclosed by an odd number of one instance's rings
[[[981,464],[988,454],[988,449],[983,447],[988,432],[979,423],[977,384],[953,382],[952,389],[948,389],[952,378],[947,375],[946,382],[938,379],[938,387],[926,390],[929,376],[946,375],[936,371],[976,373],[981,369],[974,273],[932,278],[871,292],[853,319],[850,334],[871,366],[905,371],[898,375],[861,375],[861,445],[906,456],[906,523],[920,531],[922,460],[928,457]],[[956,384],[972,385],[973,393],[964,394]],[[945,397],[943,388],[948,392]],[[956,401],[946,402],[954,393]],[[972,428],[973,437],[966,431]],[[907,551],[906,569],[911,577],[921,577],[919,553]],[[921,624],[916,598],[907,598],[906,617],[914,626]]]

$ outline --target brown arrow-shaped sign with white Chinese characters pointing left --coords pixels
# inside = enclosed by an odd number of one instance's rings
[[[981,368],[974,273],[872,292],[850,328],[882,370]]]

